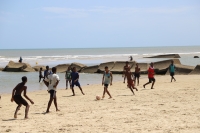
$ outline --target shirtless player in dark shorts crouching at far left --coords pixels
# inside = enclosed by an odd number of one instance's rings
[[[34,102],[26,95],[26,90],[27,90],[27,86],[25,86],[26,82],[27,82],[27,77],[26,76],[22,77],[22,82],[19,83],[12,91],[11,102],[15,101],[16,104],[18,105],[15,110],[14,118],[17,118],[17,112],[19,111],[22,105],[26,106],[25,119],[28,118],[28,111],[29,111],[30,105],[26,102],[25,99],[22,98],[21,96],[22,92],[24,92],[24,97],[27,100],[29,100],[32,104],[34,104]]]

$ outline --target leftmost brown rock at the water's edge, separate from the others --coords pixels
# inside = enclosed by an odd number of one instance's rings
[[[16,63],[10,61],[4,68],[7,72],[35,72],[35,70],[28,63]]]

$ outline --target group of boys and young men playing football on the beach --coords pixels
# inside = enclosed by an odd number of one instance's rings
[[[154,78],[154,64],[151,63],[150,67],[148,69],[148,78],[149,78],[149,82],[147,82],[146,84],[143,85],[143,87],[145,88],[146,85],[152,83],[151,89],[153,89],[154,83],[155,83],[155,78]],[[169,70],[170,70],[170,75],[172,77],[171,82],[174,78],[174,71],[175,71],[175,66],[172,64],[169,66]],[[52,68],[52,71],[49,70],[49,67],[46,67],[46,70],[44,71],[44,76],[42,75],[42,68],[40,68],[40,72],[39,72],[39,82],[41,81],[41,79],[43,78],[43,82],[45,83],[45,85],[48,87],[48,92],[50,94],[50,99],[48,102],[48,106],[47,106],[47,110],[46,113],[49,113],[49,109],[51,107],[52,102],[54,101],[54,105],[56,107],[56,111],[60,111],[58,109],[57,106],[57,97],[56,97],[56,91],[57,91],[57,85],[59,84],[59,76],[56,74],[56,67]],[[138,66],[138,64],[136,64],[135,67],[135,72],[134,75],[131,72],[131,66],[129,65],[129,62],[126,62],[126,65],[123,68],[123,75],[124,77],[124,83],[125,80],[127,79],[127,87],[130,88],[130,90],[132,91],[132,93],[134,94],[133,89],[136,89],[136,91],[138,91],[138,89],[135,87],[135,81],[137,80],[137,85],[139,85],[139,78],[140,78],[140,68]],[[76,70],[76,67],[73,67],[72,69],[70,67],[68,67],[68,70],[66,71],[65,74],[65,78],[66,78],[66,89],[68,89],[68,83],[70,85],[70,88],[72,89],[72,96],[75,96],[75,92],[74,92],[74,86],[78,86],[79,89],[81,90],[82,94],[85,95],[83,93],[83,89],[81,88],[81,85],[79,83],[79,73]],[[102,78],[102,85],[104,86],[104,91],[103,91],[103,96],[102,99],[105,97],[105,94],[107,93],[109,95],[109,98],[112,98],[110,92],[108,91],[108,86],[112,85],[112,81],[113,81],[113,75],[112,72],[109,71],[109,68],[106,66],[105,67],[105,71],[103,73],[103,78]],[[18,105],[16,108],[16,111],[14,113],[14,118],[17,118],[17,112],[20,109],[20,107],[22,105],[24,105],[25,108],[25,119],[28,118],[28,110],[30,105],[28,104],[28,102],[23,99],[23,97],[21,96],[22,92],[24,97],[29,100],[32,104],[34,104],[34,102],[26,95],[27,92],[27,87],[25,86],[27,82],[27,77],[22,77],[22,82],[19,83],[12,91],[12,97],[11,97],[11,101],[15,101],[16,104]]]

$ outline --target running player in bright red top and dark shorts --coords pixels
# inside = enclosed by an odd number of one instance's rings
[[[146,84],[143,85],[143,87],[145,88],[146,85],[152,83],[151,89],[153,89],[154,83],[155,83],[155,78],[154,78],[154,67],[153,67],[153,62],[151,62],[149,70],[148,70],[148,78],[149,78],[149,82],[147,82]]]

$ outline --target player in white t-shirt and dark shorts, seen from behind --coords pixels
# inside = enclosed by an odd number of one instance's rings
[[[48,78],[43,80],[45,85],[48,87],[48,92],[50,94],[50,99],[47,106],[46,113],[49,113],[49,109],[51,107],[52,102],[54,101],[54,105],[56,107],[56,111],[60,111],[57,105],[57,97],[56,97],[56,90],[57,85],[59,83],[59,76],[56,74],[56,67],[52,68],[53,74],[48,75]]]

